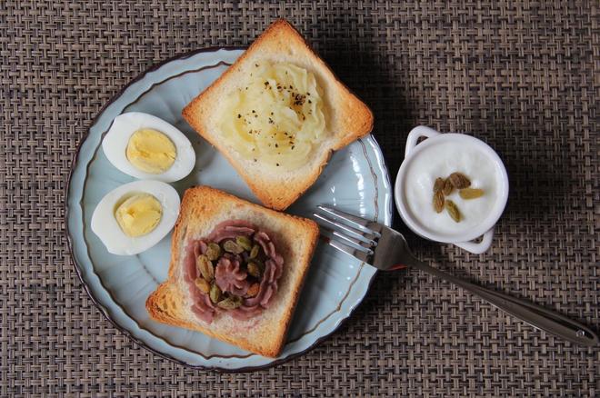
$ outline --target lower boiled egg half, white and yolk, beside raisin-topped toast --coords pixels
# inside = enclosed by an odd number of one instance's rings
[[[95,207],[92,231],[109,253],[142,253],[171,231],[179,204],[179,194],[169,184],[151,180],[124,184]]]

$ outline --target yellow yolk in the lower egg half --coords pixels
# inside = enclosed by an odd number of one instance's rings
[[[135,237],[152,232],[163,216],[163,206],[151,194],[135,194],[115,212],[116,222],[127,236]]]

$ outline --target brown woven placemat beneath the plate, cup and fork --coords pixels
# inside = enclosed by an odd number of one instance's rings
[[[146,68],[247,45],[285,16],[375,112],[391,174],[417,124],[492,144],[511,193],[493,248],[406,232],[455,274],[600,328],[600,11],[570,1],[7,0],[0,6],[0,395],[594,396],[600,350],[416,271],[381,274],[315,350],[257,373],[188,369],[95,308],[65,241],[65,187],[95,114]]]

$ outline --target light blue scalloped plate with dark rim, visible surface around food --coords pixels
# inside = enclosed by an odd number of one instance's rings
[[[305,353],[352,313],[368,291],[375,268],[319,244],[278,358],[248,353],[202,333],[167,326],[150,319],[145,299],[166,279],[171,236],[150,250],[132,256],[109,254],[90,229],[100,199],[134,178],[106,159],[101,142],[115,116],[138,111],[175,124],[195,147],[195,169],[175,184],[185,188],[207,184],[257,202],[255,195],[225,158],[185,123],[181,111],[228,65],[240,48],[211,48],[178,56],[140,75],[98,114],[75,155],[66,203],[66,223],[75,269],[85,290],[115,326],[135,342],[188,366],[225,372],[249,371],[281,363]],[[288,211],[310,216],[317,204],[335,205],[384,224],[392,221],[392,189],[381,150],[372,136],[336,152],[313,187]]]

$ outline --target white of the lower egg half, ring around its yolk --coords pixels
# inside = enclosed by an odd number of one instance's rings
[[[163,207],[160,222],[150,233],[127,236],[115,219],[117,204],[133,194],[152,194]],[[124,184],[109,192],[95,207],[92,214],[92,231],[106,250],[112,254],[133,255],[145,252],[159,243],[171,231],[179,214],[179,194],[175,188],[160,181],[142,180]]]

